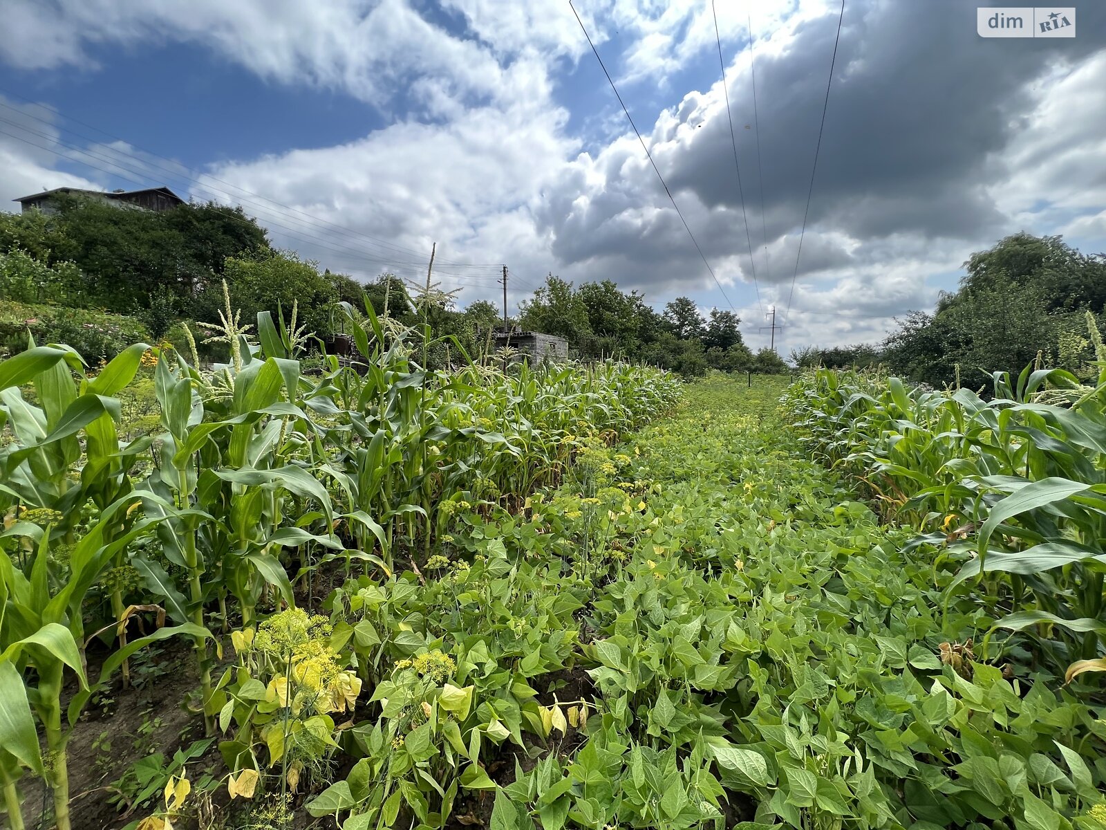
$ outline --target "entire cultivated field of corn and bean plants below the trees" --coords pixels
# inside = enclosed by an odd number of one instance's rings
[[[1094,620],[993,634],[1074,620],[1094,553],[1060,605],[962,572],[999,497],[971,515],[950,459],[995,430],[891,469],[879,406],[916,398],[878,378],[422,375],[367,340],[367,375],[306,376],[262,342],[221,375],[0,363],[9,826],[1106,827],[1100,675],[1064,677]],[[160,426],[118,439],[149,376]],[[1039,426],[1011,438],[1060,452]],[[1008,485],[1052,469],[1011,452]],[[989,556],[1057,504],[1004,511]]]

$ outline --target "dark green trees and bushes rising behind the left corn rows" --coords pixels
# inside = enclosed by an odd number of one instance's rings
[[[240,208],[186,204],[164,212],[121,209],[80,196],[61,197],[55,212],[0,214],[0,352],[42,342],[70,342],[86,359],[109,359],[138,338],[177,342],[181,323],[213,321],[225,305],[223,282],[242,322],[259,311],[291,314],[320,336],[341,331],[342,301],[407,326],[430,326],[428,355],[441,365],[461,350],[489,349],[502,324],[500,310],[481,300],[456,308],[450,294],[429,297],[382,274],[368,284],[274,249],[263,228]],[[677,298],[657,312],[635,292],[611,281],[571,282],[550,274],[522,304],[522,329],[567,339],[578,357],[615,355],[686,376],[708,367],[780,372],[772,351],[750,352],[740,320],[713,309],[703,317]],[[192,326],[195,331],[195,326]]]

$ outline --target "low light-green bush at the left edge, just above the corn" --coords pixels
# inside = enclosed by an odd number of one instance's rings
[[[109,361],[132,343],[150,340],[146,326],[133,317],[0,300],[0,357],[24,351],[28,335],[41,345],[65,343],[90,366]]]

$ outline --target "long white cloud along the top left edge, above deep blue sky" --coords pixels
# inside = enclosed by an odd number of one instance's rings
[[[518,94],[515,68],[404,0],[9,0],[4,19],[0,56],[24,69],[84,68],[91,44],[182,41],[261,77],[342,90],[385,110],[400,90],[435,116]]]

